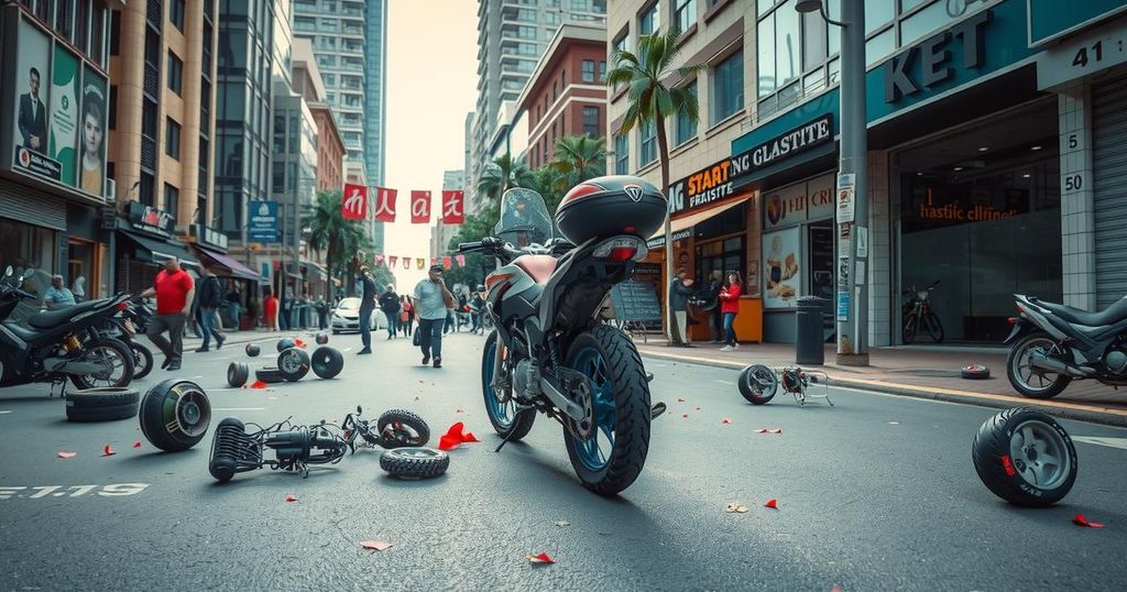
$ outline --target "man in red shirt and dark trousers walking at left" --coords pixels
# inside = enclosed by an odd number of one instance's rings
[[[188,319],[188,311],[192,310],[192,299],[195,293],[196,285],[192,276],[180,268],[180,260],[172,257],[165,262],[165,271],[157,274],[152,288],[141,294],[144,298],[157,295],[157,315],[149,322],[149,330],[145,334],[153,345],[165,352],[165,363],[161,368],[180,369],[180,356],[184,354],[184,325]],[[161,335],[166,330],[167,339]]]

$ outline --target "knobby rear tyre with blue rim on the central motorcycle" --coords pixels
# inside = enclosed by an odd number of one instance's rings
[[[595,415],[587,440],[564,430],[571,466],[585,487],[615,495],[641,475],[649,451],[649,383],[641,356],[624,333],[596,325],[571,343],[567,366],[591,381]]]

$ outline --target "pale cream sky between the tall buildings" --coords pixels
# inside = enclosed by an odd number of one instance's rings
[[[384,186],[398,189],[397,220],[385,224],[384,254],[427,257],[431,227],[411,224],[411,189],[429,189],[432,222],[442,210],[442,174],[464,166],[465,114],[477,101],[476,0],[389,0],[388,131]],[[414,262],[396,272],[397,290],[421,280]]]

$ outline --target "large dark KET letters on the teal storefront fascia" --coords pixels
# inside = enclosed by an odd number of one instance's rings
[[[955,70],[948,64],[953,58],[950,45],[955,37],[962,41],[962,68],[979,68],[986,53],[985,28],[993,18],[991,10],[978,12],[885,62],[885,103],[896,103],[952,78]],[[916,60],[920,61],[919,78],[913,79]]]

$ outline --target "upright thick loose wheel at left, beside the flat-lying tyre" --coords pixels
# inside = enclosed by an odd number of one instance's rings
[[[166,452],[187,450],[204,439],[211,401],[190,380],[170,378],[149,389],[141,401],[141,433]]]

